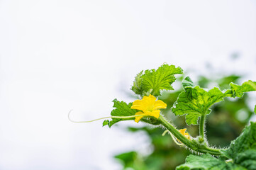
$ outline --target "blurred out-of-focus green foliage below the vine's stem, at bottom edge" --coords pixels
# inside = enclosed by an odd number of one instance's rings
[[[145,155],[133,151],[118,154],[115,158],[121,160],[123,169],[135,169],[135,170],[172,170],[179,164],[184,162],[184,159],[189,154],[188,150],[184,150],[182,147],[177,147],[173,142],[170,135],[162,136],[162,129],[150,128],[145,126],[143,128],[128,128],[130,132],[139,132],[139,134],[145,134],[150,137],[152,153]],[[169,152],[168,152],[169,151]],[[135,154],[136,153],[136,154]],[[130,159],[123,159],[123,155]],[[120,159],[120,156],[122,159]]]

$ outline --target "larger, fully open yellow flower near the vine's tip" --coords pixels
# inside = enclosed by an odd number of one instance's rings
[[[152,96],[143,96],[142,100],[133,101],[133,106],[130,108],[140,110],[135,115],[153,116],[159,118],[160,108],[166,108],[167,105],[161,100],[156,101],[157,98]],[[135,117],[135,122],[138,123],[143,116]]]

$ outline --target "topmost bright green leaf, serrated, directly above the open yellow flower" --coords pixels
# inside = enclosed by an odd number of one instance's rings
[[[174,74],[183,74],[183,70],[168,64],[163,64],[157,70],[145,70],[144,74],[137,74],[131,89],[140,96],[160,96],[162,90],[173,90],[171,84],[176,80]]]

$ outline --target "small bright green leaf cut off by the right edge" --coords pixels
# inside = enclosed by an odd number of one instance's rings
[[[233,97],[242,97],[245,92],[256,91],[256,81],[245,81],[241,86],[230,83]]]

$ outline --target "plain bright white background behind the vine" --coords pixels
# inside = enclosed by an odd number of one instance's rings
[[[164,62],[255,80],[255,30],[249,0],[0,0],[0,169],[121,169],[113,155],[148,152],[145,135],[68,111],[110,115]]]

